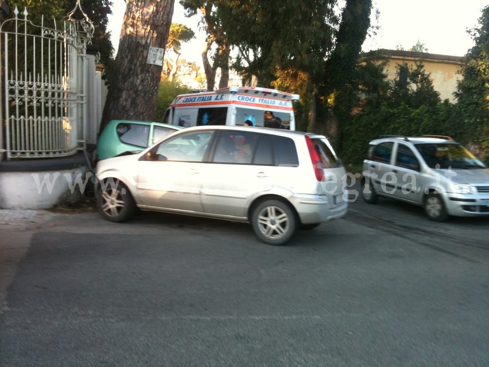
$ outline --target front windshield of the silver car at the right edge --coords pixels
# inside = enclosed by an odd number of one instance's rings
[[[485,168],[468,149],[460,144],[416,144],[426,164],[431,168]]]

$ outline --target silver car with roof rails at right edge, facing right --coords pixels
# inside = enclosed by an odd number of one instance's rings
[[[370,142],[362,196],[421,205],[433,221],[489,216],[489,169],[450,137],[384,136]]]

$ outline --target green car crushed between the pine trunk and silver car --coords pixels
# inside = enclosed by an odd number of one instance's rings
[[[96,160],[112,158],[127,151],[143,150],[182,128],[161,122],[112,120],[98,139]]]

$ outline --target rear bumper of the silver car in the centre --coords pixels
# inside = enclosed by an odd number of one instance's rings
[[[341,218],[348,210],[348,202],[341,193],[336,195],[336,199],[333,195],[296,195],[289,200],[294,205],[302,224]]]

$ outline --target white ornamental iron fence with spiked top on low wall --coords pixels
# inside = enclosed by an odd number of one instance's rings
[[[75,12],[82,19],[74,19]],[[0,161],[71,155],[87,128],[86,48],[94,27],[77,0],[62,27],[28,19],[0,25]]]

